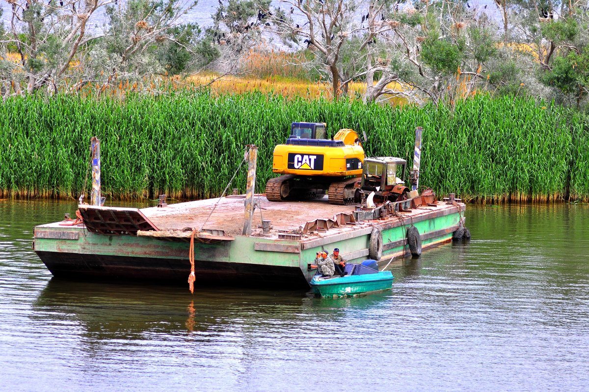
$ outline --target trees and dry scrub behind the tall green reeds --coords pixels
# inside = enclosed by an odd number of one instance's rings
[[[333,99],[366,102],[451,104],[488,92],[585,110],[589,99],[589,14],[579,1],[497,0],[487,9],[468,1],[219,0],[206,27],[188,22],[202,13],[194,1],[8,2],[3,97],[127,83],[154,93],[144,78],[213,71],[325,82]]]

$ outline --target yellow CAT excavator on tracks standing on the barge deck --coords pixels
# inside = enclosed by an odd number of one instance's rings
[[[362,176],[364,149],[358,134],[341,129],[327,139],[324,123],[292,123],[286,144],[274,147],[272,171],[282,174],[266,183],[272,202],[323,197],[332,204],[353,204]]]

